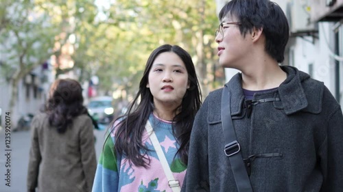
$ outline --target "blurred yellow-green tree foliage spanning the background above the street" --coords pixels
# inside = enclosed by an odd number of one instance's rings
[[[224,81],[216,63],[214,0],[2,0],[1,71],[13,86],[33,68],[73,51],[80,81],[99,77],[99,89],[135,94],[147,57],[161,44],[178,44],[196,64],[203,95]],[[10,71],[10,73],[9,73]],[[15,89],[14,89],[15,90]],[[12,93],[16,94],[16,93]],[[12,97],[15,98],[15,97]]]

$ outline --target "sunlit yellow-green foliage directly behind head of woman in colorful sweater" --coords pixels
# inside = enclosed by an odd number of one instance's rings
[[[224,71],[215,66],[214,31],[218,21],[212,0],[118,0],[107,11],[103,23],[115,29],[112,33],[116,40],[111,43],[137,58],[130,60],[125,53],[120,54],[114,57],[118,64],[125,59],[125,66],[141,69],[156,46],[179,44],[193,56],[204,96],[224,81]]]

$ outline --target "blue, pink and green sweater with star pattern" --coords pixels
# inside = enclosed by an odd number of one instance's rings
[[[171,122],[158,119],[154,115],[150,115],[149,120],[165,153],[171,172],[173,172],[174,178],[180,182],[181,187],[185,178],[186,167],[180,162],[178,156],[174,159],[178,143],[172,133]],[[147,169],[136,167],[130,161],[126,161],[125,156],[115,152],[113,144],[115,143],[115,137],[113,133],[110,136],[106,140],[104,150],[99,158],[93,192],[171,192],[161,162],[158,160],[154,146],[146,131],[143,132],[142,140],[145,146],[152,150],[148,152],[150,165]]]

